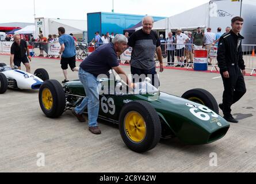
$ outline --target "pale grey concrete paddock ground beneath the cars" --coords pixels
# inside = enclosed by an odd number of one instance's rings
[[[9,63],[9,56],[0,55],[0,61]],[[32,72],[43,67],[51,79],[64,79],[59,60],[33,59],[31,64]],[[68,71],[70,80],[77,75]],[[162,91],[181,96],[200,87],[221,101],[219,74],[165,70],[160,76]],[[198,146],[161,140],[144,154],[125,146],[117,126],[101,122],[102,135],[93,135],[71,112],[54,120],[45,117],[38,91],[9,89],[0,95],[0,172],[255,172],[256,78],[245,79],[247,94],[232,107],[240,122],[231,124],[223,139]],[[39,153],[45,154],[44,167],[37,166]],[[211,153],[217,154],[217,167],[209,166]]]

